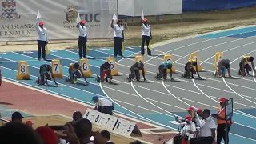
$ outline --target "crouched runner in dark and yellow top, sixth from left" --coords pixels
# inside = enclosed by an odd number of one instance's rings
[[[195,69],[194,70],[194,66],[195,66]],[[199,75],[199,72],[198,72],[198,62],[195,61],[195,60],[192,60],[192,61],[188,61],[186,62],[186,65],[185,65],[185,72],[184,74],[182,74],[182,77],[183,78],[190,78],[190,73],[191,73],[191,77],[194,78],[194,74],[198,74],[198,78],[201,78],[200,75]]]

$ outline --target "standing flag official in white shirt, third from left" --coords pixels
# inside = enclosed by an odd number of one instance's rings
[[[125,34],[123,27],[121,26],[121,20],[117,20],[117,24],[114,24],[114,19],[111,22],[111,28],[114,29],[114,57],[118,55],[122,56],[122,42],[125,40]]]

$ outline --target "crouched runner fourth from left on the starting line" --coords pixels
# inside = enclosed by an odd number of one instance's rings
[[[136,78],[137,82],[139,82],[139,79],[140,79],[139,70],[142,70],[142,76],[144,78],[144,81],[146,82],[144,64],[142,62],[135,62],[134,65],[130,67],[130,74],[127,80],[131,82]]]

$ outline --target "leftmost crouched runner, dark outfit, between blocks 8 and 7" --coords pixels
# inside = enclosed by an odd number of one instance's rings
[[[39,69],[39,74],[40,74],[40,77],[38,77],[38,80],[36,80],[36,83],[38,85],[45,85],[45,84],[48,85],[47,80],[51,80],[51,77],[54,79],[55,85],[56,86],[58,85],[58,83],[55,81],[54,74],[50,65],[46,65],[46,64],[41,65]]]

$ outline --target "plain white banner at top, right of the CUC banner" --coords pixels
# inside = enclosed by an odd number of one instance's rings
[[[118,0],[118,15],[182,14],[182,0]]]

